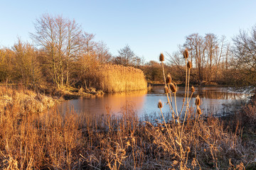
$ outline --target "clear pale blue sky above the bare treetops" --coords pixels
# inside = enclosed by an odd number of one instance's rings
[[[256,1],[161,1],[161,0],[3,0],[0,10],[0,46],[21,40],[31,42],[33,22],[43,13],[75,19],[87,33],[110,47],[112,55],[129,45],[146,61],[160,52],[174,52],[191,33],[214,33],[228,39],[239,29],[256,23]]]

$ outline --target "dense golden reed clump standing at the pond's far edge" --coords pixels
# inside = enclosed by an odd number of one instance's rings
[[[92,77],[96,89],[107,93],[146,89],[146,79],[141,69],[116,64],[100,66]]]

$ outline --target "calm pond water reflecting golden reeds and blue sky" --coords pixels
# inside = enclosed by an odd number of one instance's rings
[[[178,111],[181,110],[183,104],[184,89],[185,87],[183,86],[178,87],[178,92],[176,93]],[[228,87],[209,86],[195,89],[196,91],[191,98],[190,106],[196,110],[194,103],[196,96],[199,95],[202,101],[201,109],[203,113],[213,115],[224,115],[225,113],[237,111],[242,103],[245,103],[251,95],[232,91]],[[129,103],[139,117],[143,118],[145,115],[159,114],[159,108],[157,107],[159,99],[162,102],[167,101],[166,94],[164,94],[164,86],[153,86],[151,92],[133,91],[130,93],[105,94],[101,97],[64,101],[60,103],[58,110],[60,113],[65,113],[74,109],[77,113],[102,115],[102,113],[106,113],[106,107],[109,107],[112,113],[119,114],[122,111],[122,107]],[[172,96],[172,100],[174,101],[174,96]],[[162,111],[164,114],[170,112],[169,106],[166,103]]]

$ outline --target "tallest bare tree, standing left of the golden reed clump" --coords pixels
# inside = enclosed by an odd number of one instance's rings
[[[68,84],[70,61],[75,59],[80,49],[80,26],[74,20],[49,14],[38,18],[34,25],[36,33],[31,33],[31,38],[46,51],[46,65],[53,83],[63,86],[65,80]]]

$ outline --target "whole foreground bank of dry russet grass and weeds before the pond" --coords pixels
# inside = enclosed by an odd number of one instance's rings
[[[106,108],[94,117],[48,112],[54,101],[1,89],[1,169],[181,169],[181,161],[183,169],[255,168],[255,102],[230,119],[190,109],[180,143],[176,123],[140,122],[129,103],[121,115]]]

